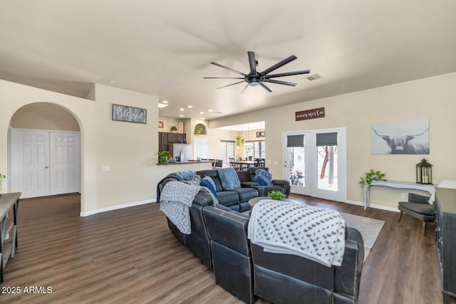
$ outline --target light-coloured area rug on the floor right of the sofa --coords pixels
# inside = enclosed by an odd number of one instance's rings
[[[385,221],[378,219],[370,219],[368,217],[346,214],[341,212],[341,216],[345,219],[345,224],[348,227],[353,227],[361,232],[364,240],[364,261],[371,252],[372,246],[378,238],[378,234],[383,228]]]

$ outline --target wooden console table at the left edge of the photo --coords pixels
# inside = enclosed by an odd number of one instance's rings
[[[14,258],[14,249],[17,247],[17,212],[21,192],[0,194],[0,283],[3,282],[3,271],[9,258]],[[8,216],[13,209],[13,219]],[[13,229],[11,231],[11,229]],[[9,235],[6,242],[5,236]],[[12,240],[10,241],[10,239]]]

